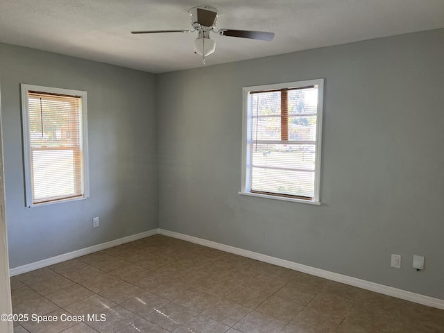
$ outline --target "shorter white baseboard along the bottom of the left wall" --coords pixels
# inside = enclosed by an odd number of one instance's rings
[[[56,257],[51,257],[47,259],[40,260],[38,262],[32,262],[31,264],[26,264],[23,266],[18,266],[14,268],[10,268],[9,275],[15,276],[22,273],[27,273],[30,271],[34,271],[38,268],[43,268],[46,266],[51,266],[53,264],[58,264],[59,262],[65,262],[69,259],[74,259],[76,257],[81,257],[82,255],[89,255],[89,253],[94,253],[97,251],[105,250],[106,248],[112,248],[113,246],[118,246],[121,244],[129,243],[130,241],[137,241],[137,239],[142,239],[145,237],[153,236],[157,234],[158,230],[148,230],[145,232],[140,232],[139,234],[133,234],[131,236],[114,239],[113,241],[107,241],[106,243],[97,244],[94,246],[89,246],[89,248],[81,248],[80,250],[76,250],[69,253],[64,253],[63,255],[56,255]]]

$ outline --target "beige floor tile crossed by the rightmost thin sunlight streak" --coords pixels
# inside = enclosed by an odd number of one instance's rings
[[[170,303],[169,305],[151,311],[151,314],[148,314],[145,318],[151,321],[151,323],[171,332],[176,330],[180,325],[191,321],[196,315],[196,313],[189,311],[185,307]]]

